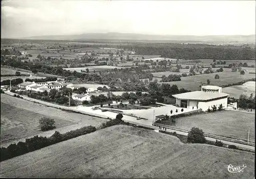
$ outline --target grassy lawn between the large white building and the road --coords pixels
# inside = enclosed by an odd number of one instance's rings
[[[249,141],[254,142],[254,121],[254,113],[222,111],[177,118],[175,126],[188,130],[196,126],[205,133],[241,140],[248,139],[250,129]],[[164,123],[168,124],[168,121]]]

